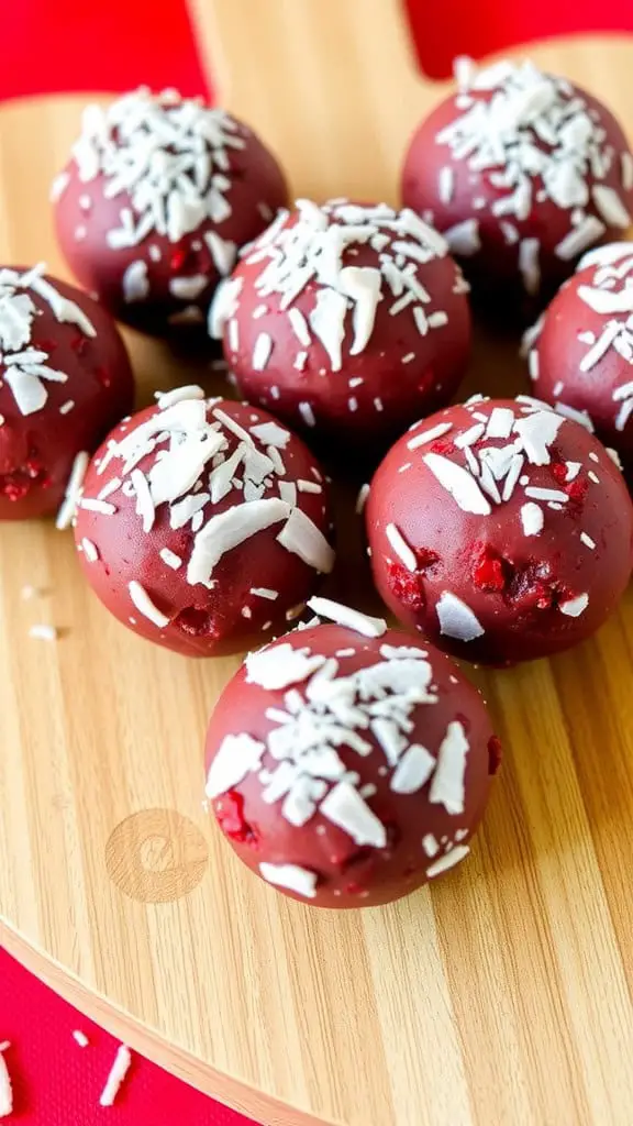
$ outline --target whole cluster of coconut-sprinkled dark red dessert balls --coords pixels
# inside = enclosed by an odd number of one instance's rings
[[[252,650],[209,724],[207,798],[249,867],[323,906],[389,902],[469,852],[500,747],[446,653],[567,649],[633,569],[633,243],[608,242],[633,155],[528,62],[456,78],[401,208],[291,206],[246,125],[175,91],[89,107],[53,199],[90,296],[0,270],[0,517],[72,524],[141,636]],[[538,316],[534,397],[448,405],[472,306]],[[110,314],[221,341],[244,401],[181,386],[130,414]],[[358,536],[407,632],[315,597],[336,565],[321,454],[373,471]]]

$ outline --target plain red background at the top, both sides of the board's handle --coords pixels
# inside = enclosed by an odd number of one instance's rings
[[[420,65],[433,78],[446,78],[456,54],[478,59],[551,35],[633,30],[631,0],[404,2]],[[184,0],[7,0],[0,63],[0,99],[142,82],[188,95],[207,89]]]

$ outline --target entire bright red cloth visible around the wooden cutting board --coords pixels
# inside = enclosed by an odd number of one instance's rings
[[[264,0],[260,0],[264,2]],[[298,3],[300,0],[296,0]],[[359,0],[360,2],[360,0]],[[573,32],[633,30],[631,0],[405,0],[422,70],[451,72],[455,54]],[[123,91],[140,83],[208,92],[184,0],[16,0],[2,5],[0,99]],[[90,1047],[80,1048],[73,1029]],[[248,1126],[136,1056],[114,1107],[99,1096],[117,1042],[80,1017],[0,950],[0,1042],[20,1126]]]

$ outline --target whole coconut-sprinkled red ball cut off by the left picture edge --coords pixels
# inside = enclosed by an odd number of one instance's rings
[[[108,314],[44,270],[0,267],[0,519],[51,516],[66,493],[63,528],[134,378]]]

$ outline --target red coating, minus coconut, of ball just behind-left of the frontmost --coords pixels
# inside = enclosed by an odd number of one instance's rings
[[[222,408],[244,427],[253,422],[273,421],[264,411],[243,403],[209,400],[207,417],[213,408]],[[98,472],[98,463],[107,452],[108,441],[126,437],[157,412],[157,406],[140,411],[130,422],[116,427],[108,436],[88,468],[84,498],[97,497],[109,481],[121,476],[122,463],[118,459],[110,461],[102,474]],[[230,455],[239,439],[230,431],[226,437],[226,453]],[[319,472],[318,463],[300,438],[292,435],[283,450],[283,457],[286,465],[284,481],[307,479],[315,482],[313,471]],[[139,462],[137,468],[146,474],[154,463],[155,455],[151,453]],[[320,480],[322,492],[298,492],[297,504],[323,535],[329,536],[328,486],[321,474]],[[265,498],[278,495],[276,482],[264,493]],[[301,613],[305,599],[318,583],[316,571],[277,543],[276,537],[282,528],[279,522],[258,531],[228,552],[213,572],[215,584],[212,590],[199,583],[193,586],[186,578],[187,561],[194,543],[190,522],[172,529],[169,506],[159,504],[154,525],[151,531],[145,533],[136,512],[134,495],[125,495],[119,489],[107,500],[116,508],[114,515],[81,507],[77,515],[78,547],[82,546],[86,538],[95,545],[99,556],[91,562],[86,551],[80,552],[79,557],[88,581],[119,622],[142,637],[178,653],[209,656],[261,644],[264,634],[270,635],[288,628],[292,611],[298,607],[294,616]],[[241,503],[242,494],[233,488],[216,504],[207,501],[202,511],[206,520],[212,515]],[[172,570],[161,558],[159,552],[163,548],[184,560],[179,570]],[[159,628],[133,605],[128,588],[128,583],[133,581],[141,583],[154,606],[170,619],[166,627]],[[253,588],[274,589],[278,597],[271,601],[256,596],[251,593]],[[242,613],[244,609],[249,613],[248,617]]]

